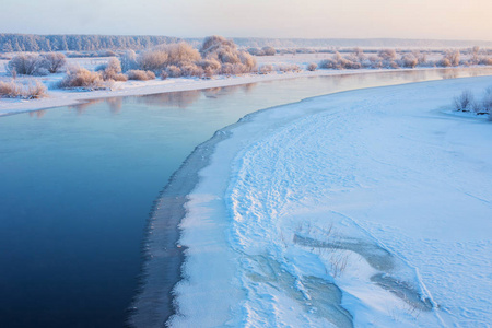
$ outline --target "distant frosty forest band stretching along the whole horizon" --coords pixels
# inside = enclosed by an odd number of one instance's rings
[[[35,35],[0,34],[0,52],[12,51],[99,51],[99,50],[141,50],[161,44],[186,40],[199,47],[203,38],[178,38],[149,35]],[[482,40],[438,40],[438,39],[400,39],[400,38],[265,38],[234,37],[232,40],[242,48],[470,48],[480,46],[492,48],[492,42]]]

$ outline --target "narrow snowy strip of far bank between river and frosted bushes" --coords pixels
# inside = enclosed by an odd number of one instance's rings
[[[297,78],[311,77],[332,77],[344,74],[367,74],[367,73],[388,73],[388,72],[408,72],[408,71],[457,71],[464,68],[418,68],[418,69],[362,69],[362,70],[317,70],[314,72],[288,72],[288,73],[269,73],[269,74],[246,74],[238,77],[216,77],[211,80],[201,79],[168,79],[168,80],[153,80],[153,81],[130,81],[130,82],[115,82],[112,90],[101,91],[63,91],[50,90],[49,95],[39,99],[17,99],[17,98],[0,98],[0,117],[4,115],[12,115],[39,109],[50,109],[61,106],[72,106],[83,104],[85,102],[124,97],[124,96],[141,96],[160,93],[171,93],[180,91],[204,90],[223,86],[234,86],[249,83],[268,82],[277,80],[288,80]],[[477,68],[480,69],[480,68]],[[61,77],[58,77],[60,79]],[[51,83],[51,82],[50,82]]]

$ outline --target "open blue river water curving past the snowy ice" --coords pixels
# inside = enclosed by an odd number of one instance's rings
[[[304,78],[0,117],[0,327],[121,327],[152,201],[213,132],[337,91],[490,69]]]

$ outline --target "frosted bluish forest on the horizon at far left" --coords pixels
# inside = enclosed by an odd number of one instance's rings
[[[169,36],[0,34],[0,51],[97,51],[147,49],[178,42]]]

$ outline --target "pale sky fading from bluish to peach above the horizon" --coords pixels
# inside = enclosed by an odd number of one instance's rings
[[[492,40],[492,0],[0,0],[0,33]]]

